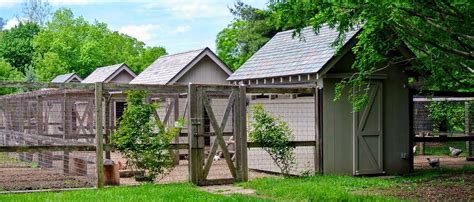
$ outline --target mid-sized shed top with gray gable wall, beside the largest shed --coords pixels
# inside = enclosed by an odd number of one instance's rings
[[[158,58],[131,84],[226,84],[232,70],[209,48]]]

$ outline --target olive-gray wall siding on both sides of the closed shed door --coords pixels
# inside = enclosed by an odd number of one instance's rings
[[[353,54],[344,56],[330,73],[349,72]],[[407,75],[402,67],[387,68],[383,80],[383,148],[384,170],[388,174],[408,173],[409,160],[401,155],[410,152]],[[335,84],[339,79],[324,79],[323,89],[323,170],[325,173],[352,174],[353,114],[347,99],[334,102]]]

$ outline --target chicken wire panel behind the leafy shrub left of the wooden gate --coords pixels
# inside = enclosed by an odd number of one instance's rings
[[[123,91],[110,91],[108,94],[112,95],[107,101],[109,111],[106,112],[106,114],[108,114],[107,122],[110,123],[109,128],[111,129],[111,135],[114,133],[114,130],[118,128],[120,117],[126,109],[125,103],[127,94]],[[165,124],[165,127],[176,127],[177,121],[184,120],[186,122],[188,110],[186,109],[187,96],[185,93],[154,93],[153,91],[148,91],[146,101],[158,104],[159,107],[154,116],[159,118]],[[187,124],[184,124],[184,128],[181,128],[180,134],[178,134],[171,143],[188,143]],[[188,150],[173,149],[173,153],[174,165],[163,174],[158,175],[155,179],[155,183],[177,183],[188,181]],[[135,175],[139,174],[139,172],[136,168],[133,168],[128,164],[128,159],[119,151],[110,152],[110,154],[106,154],[105,157],[110,158],[119,165],[121,185],[135,185],[140,183],[135,180]]]

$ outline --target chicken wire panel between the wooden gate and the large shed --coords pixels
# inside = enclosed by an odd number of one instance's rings
[[[266,112],[286,122],[294,136],[294,141],[315,141],[315,99],[313,96],[272,94],[250,96],[247,107],[247,131],[251,130],[252,106],[260,104]],[[251,141],[250,138],[248,138]],[[280,173],[270,155],[262,148],[249,148],[248,168],[254,171]],[[290,174],[315,173],[315,147],[299,146],[294,149],[295,162]]]

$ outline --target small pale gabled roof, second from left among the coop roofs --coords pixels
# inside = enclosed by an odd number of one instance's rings
[[[137,75],[127,66],[125,63],[115,64],[105,67],[99,67],[94,70],[88,77],[86,77],[81,83],[95,83],[95,82],[109,82],[114,79],[115,76],[120,72],[126,71],[133,77]]]

